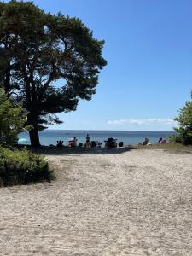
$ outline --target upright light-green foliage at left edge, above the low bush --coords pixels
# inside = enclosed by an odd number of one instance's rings
[[[13,101],[7,99],[0,88],[0,145],[15,144],[25,122],[26,115],[21,106],[15,108]]]

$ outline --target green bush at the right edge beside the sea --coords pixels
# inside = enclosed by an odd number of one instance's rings
[[[171,142],[192,145],[192,101],[185,103],[175,120],[178,122],[179,127],[174,129],[177,135],[170,138]]]

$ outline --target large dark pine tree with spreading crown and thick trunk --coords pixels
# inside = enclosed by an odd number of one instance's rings
[[[103,44],[75,17],[45,14],[31,2],[0,2],[0,86],[26,109],[32,146],[39,145],[38,131],[61,123],[55,113],[73,111],[96,93],[107,64]]]

